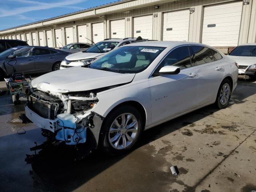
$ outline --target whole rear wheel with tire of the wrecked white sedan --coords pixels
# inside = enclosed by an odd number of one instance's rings
[[[219,109],[223,109],[226,108],[226,106],[228,106],[231,97],[231,92],[232,88],[230,81],[228,79],[224,79],[220,84],[220,88],[218,90],[218,95],[215,102],[216,106]]]

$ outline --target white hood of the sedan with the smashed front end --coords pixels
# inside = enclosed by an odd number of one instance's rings
[[[135,74],[121,74],[81,66],[44,74],[34,80],[34,88],[50,92],[88,91],[131,82]]]

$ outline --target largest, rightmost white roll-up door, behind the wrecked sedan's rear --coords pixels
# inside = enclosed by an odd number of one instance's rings
[[[204,8],[202,43],[210,46],[237,46],[242,1]]]

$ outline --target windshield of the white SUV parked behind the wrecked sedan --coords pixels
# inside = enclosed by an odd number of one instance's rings
[[[89,47],[86,53],[106,53],[114,49],[119,42],[114,41],[101,41]],[[98,48],[97,48],[98,47]]]

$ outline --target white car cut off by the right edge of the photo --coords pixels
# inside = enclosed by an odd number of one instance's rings
[[[239,77],[256,78],[256,43],[239,45],[228,54],[228,57],[238,63]]]

